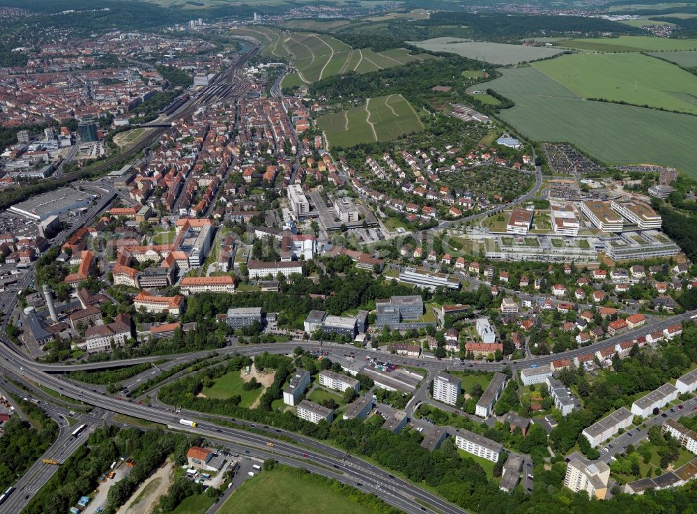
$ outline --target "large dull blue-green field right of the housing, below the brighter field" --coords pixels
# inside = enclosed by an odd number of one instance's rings
[[[526,137],[571,142],[608,164],[655,163],[697,177],[697,147],[684,139],[697,133],[697,116],[585,101],[533,66],[503,70],[487,87],[514,101],[499,116]]]

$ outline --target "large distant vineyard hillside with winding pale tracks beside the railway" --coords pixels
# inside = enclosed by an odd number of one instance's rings
[[[373,52],[367,48],[353,49],[332,36],[281,31],[259,25],[233,29],[231,33],[261,41],[264,46],[261,52],[263,56],[292,57],[296,73],[286,75],[284,87],[311,84],[348,71],[368,73],[434,58],[429,54],[411,54],[404,48],[383,52]]]

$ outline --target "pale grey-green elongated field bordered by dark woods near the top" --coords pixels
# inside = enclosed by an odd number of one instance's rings
[[[537,61],[537,59],[545,59],[562,52],[558,48],[524,47],[523,45],[485,43],[459,38],[433,38],[409,43],[429,52],[447,52],[487,63],[504,65]]]

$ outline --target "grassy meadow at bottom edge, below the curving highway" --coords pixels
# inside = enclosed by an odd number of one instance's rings
[[[373,514],[375,511],[319,483],[313,476],[300,476],[288,469],[275,468],[247,480],[218,512]]]

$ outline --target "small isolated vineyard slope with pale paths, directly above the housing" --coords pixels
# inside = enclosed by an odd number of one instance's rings
[[[424,128],[418,114],[401,95],[368,98],[358,107],[321,116],[317,125],[330,148],[390,141]]]

